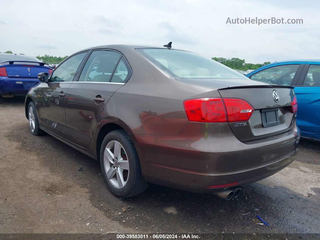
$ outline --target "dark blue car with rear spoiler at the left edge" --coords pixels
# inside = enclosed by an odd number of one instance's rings
[[[26,95],[30,87],[39,83],[40,72],[50,74],[52,68],[35,57],[0,53],[0,95],[2,97]]]

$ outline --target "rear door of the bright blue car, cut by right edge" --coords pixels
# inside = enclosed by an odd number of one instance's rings
[[[320,138],[320,62],[306,62],[294,92],[302,135]]]

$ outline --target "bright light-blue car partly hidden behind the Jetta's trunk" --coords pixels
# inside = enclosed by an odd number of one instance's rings
[[[320,139],[320,60],[274,62],[246,76],[256,81],[293,86],[301,135]]]

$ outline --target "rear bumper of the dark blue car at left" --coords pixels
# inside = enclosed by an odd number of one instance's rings
[[[26,95],[30,87],[38,83],[38,79],[0,77],[0,94],[12,93],[14,95]]]

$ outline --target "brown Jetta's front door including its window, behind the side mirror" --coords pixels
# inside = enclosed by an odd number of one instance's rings
[[[65,137],[66,94],[87,53],[76,54],[62,62],[49,76],[49,82],[43,83],[40,88],[39,102],[42,104],[38,108],[39,124],[60,137]]]

